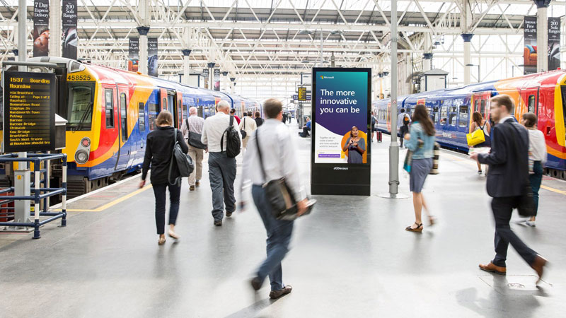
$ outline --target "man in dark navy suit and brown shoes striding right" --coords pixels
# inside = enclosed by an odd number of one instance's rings
[[[507,247],[511,243],[540,281],[546,259],[527,247],[509,226],[513,208],[518,206],[525,183],[529,182],[529,133],[513,120],[513,112],[514,102],[508,95],[491,98],[490,115],[496,123],[492,129],[491,152],[470,155],[471,159],[490,165],[487,194],[493,198],[491,208],[495,218],[495,258],[487,265],[480,264],[480,269],[504,275]]]

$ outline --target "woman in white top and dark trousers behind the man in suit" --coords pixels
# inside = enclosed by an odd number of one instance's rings
[[[536,114],[527,112],[521,117],[521,125],[529,131],[529,182],[533,190],[533,201],[535,203],[535,213],[526,225],[536,226],[536,213],[538,212],[538,190],[541,189],[543,182],[543,165],[546,162],[546,141],[542,131],[536,129]]]

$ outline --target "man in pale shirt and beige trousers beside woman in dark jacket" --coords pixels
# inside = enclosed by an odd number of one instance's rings
[[[195,170],[192,170],[192,173],[189,176],[189,189],[190,191],[194,191],[195,187],[200,186],[200,179],[202,178],[202,158],[204,158],[204,149],[191,146],[188,140],[189,131],[193,134],[202,135],[202,126],[204,126],[204,119],[198,117],[197,107],[190,107],[189,114],[189,118],[185,119],[185,121],[183,121],[183,124],[181,125],[181,132],[183,133],[183,137],[185,137],[185,141],[187,141],[187,143],[189,144],[189,155],[195,162]]]

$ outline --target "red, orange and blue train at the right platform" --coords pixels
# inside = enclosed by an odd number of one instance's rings
[[[419,104],[425,105],[437,130],[437,141],[444,148],[468,152],[466,134],[470,132],[473,112],[490,119],[490,98],[509,95],[515,102],[514,117],[525,112],[538,117],[548,152],[545,173],[566,179],[566,71],[546,71],[499,81],[475,83],[459,88],[400,96],[400,109],[412,114]],[[376,100],[372,108],[378,119],[378,130],[391,133],[391,99]]]

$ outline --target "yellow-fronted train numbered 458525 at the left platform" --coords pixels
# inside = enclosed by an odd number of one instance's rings
[[[260,112],[259,102],[216,90],[113,69],[62,57],[36,57],[29,61],[57,64],[56,113],[67,119],[68,197],[105,187],[130,172],[141,169],[147,134],[155,128],[161,110],[173,114],[180,128],[197,107],[200,117],[216,113],[216,105],[226,100],[243,112]],[[52,177],[60,176],[60,166],[52,167]],[[57,182],[58,180],[54,180]],[[60,180],[59,180],[60,182]]]

